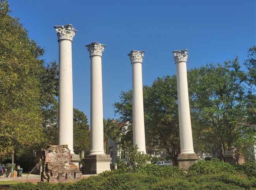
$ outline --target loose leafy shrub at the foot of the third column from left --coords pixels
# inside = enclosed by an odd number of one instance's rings
[[[132,145],[131,141],[124,142],[121,145],[121,150],[123,151],[125,158],[119,158],[117,162],[117,168],[123,169],[128,167],[131,170],[136,170],[146,166],[148,161],[150,161],[150,155],[138,151],[138,146],[135,147]],[[120,151],[120,150],[117,150]]]

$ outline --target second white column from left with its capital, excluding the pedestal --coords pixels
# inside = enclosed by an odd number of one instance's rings
[[[85,45],[91,58],[91,151],[105,154],[103,145],[103,102],[101,58],[106,45],[93,42]]]

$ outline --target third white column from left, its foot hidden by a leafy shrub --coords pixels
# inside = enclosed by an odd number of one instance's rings
[[[132,64],[133,146],[138,145],[138,151],[146,153],[142,88],[142,59],[144,52],[132,50],[128,56]]]

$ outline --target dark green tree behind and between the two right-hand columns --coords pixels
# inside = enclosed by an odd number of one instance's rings
[[[147,150],[165,148],[177,166],[180,153],[178,130],[177,82],[175,76],[157,78],[151,87],[143,87]],[[121,92],[115,102],[120,120],[132,122],[132,92]],[[131,139],[132,133],[127,133]],[[127,136],[125,135],[125,136]]]

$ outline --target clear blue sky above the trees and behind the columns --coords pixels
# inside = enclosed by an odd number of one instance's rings
[[[223,63],[237,55],[242,63],[255,45],[255,0],[10,0],[11,15],[46,49],[44,59],[58,61],[54,25],[73,24],[74,107],[90,119],[90,58],[85,44],[106,44],[102,57],[103,115],[132,88],[127,54],[146,51],[143,84],[176,73],[173,50],[188,49],[187,67]]]

